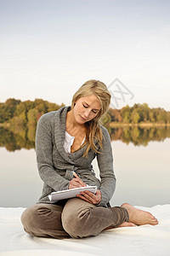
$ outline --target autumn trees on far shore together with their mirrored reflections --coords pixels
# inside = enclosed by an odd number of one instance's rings
[[[34,148],[37,120],[43,113],[55,111],[63,106],[64,103],[58,105],[42,99],[21,102],[10,98],[0,103],[0,147],[6,147],[9,151]],[[159,141],[170,137],[170,112],[163,108],[149,108],[145,103],[134,104],[132,108],[110,108],[103,123],[110,133],[111,140],[121,139],[124,143],[146,145],[150,140]],[[150,127],[143,130],[136,126],[126,128],[128,125],[140,124],[160,124],[164,127],[162,126],[161,130]],[[111,128],[114,125],[117,126]],[[121,128],[117,128],[118,125]],[[121,125],[125,125],[124,128]]]

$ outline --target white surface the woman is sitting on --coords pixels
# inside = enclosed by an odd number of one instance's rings
[[[65,240],[29,236],[20,223],[24,208],[0,208],[0,256],[169,256],[170,205],[139,208],[154,214],[159,224],[105,230],[99,236]]]

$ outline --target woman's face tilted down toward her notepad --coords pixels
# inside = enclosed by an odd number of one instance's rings
[[[98,98],[94,94],[91,94],[77,100],[73,108],[73,113],[77,123],[83,124],[94,119],[100,109],[101,105]]]

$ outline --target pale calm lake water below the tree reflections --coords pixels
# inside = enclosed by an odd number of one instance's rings
[[[150,142],[146,147],[113,141],[112,148],[117,178],[112,206],[125,201],[145,207],[170,203],[170,138]],[[0,156],[0,207],[34,204],[42,191],[35,150],[22,148],[9,152],[0,148]],[[94,170],[98,176],[95,160]]]

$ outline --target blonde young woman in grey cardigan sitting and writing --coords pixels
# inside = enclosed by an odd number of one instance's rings
[[[32,236],[81,238],[97,236],[119,226],[157,224],[157,219],[125,203],[109,207],[116,187],[111,140],[99,120],[106,113],[111,94],[105,84],[89,80],[77,90],[71,107],[43,114],[37,124],[37,166],[44,182],[42,196],[21,216]],[[97,157],[100,180],[92,161]],[[77,177],[73,176],[73,172]],[[77,198],[51,203],[53,191],[96,185],[96,194],[82,192]]]

